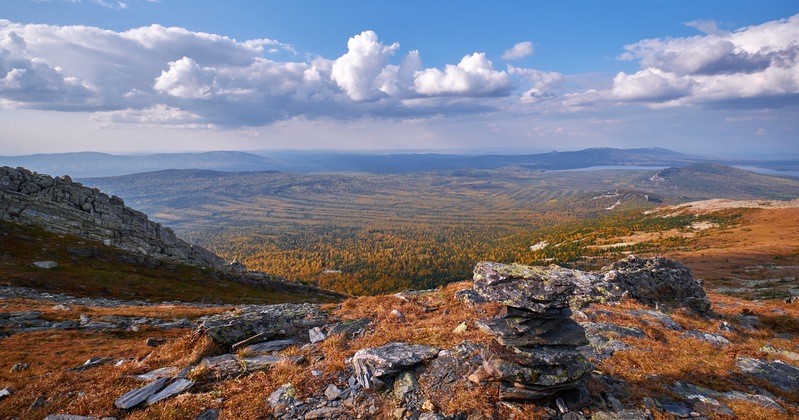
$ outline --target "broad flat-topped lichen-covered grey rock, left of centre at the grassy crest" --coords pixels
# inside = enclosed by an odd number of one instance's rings
[[[198,328],[223,347],[257,334],[262,340],[292,338],[297,342],[307,342],[308,330],[324,325],[327,319],[327,313],[319,305],[310,303],[252,305],[202,317]]]

